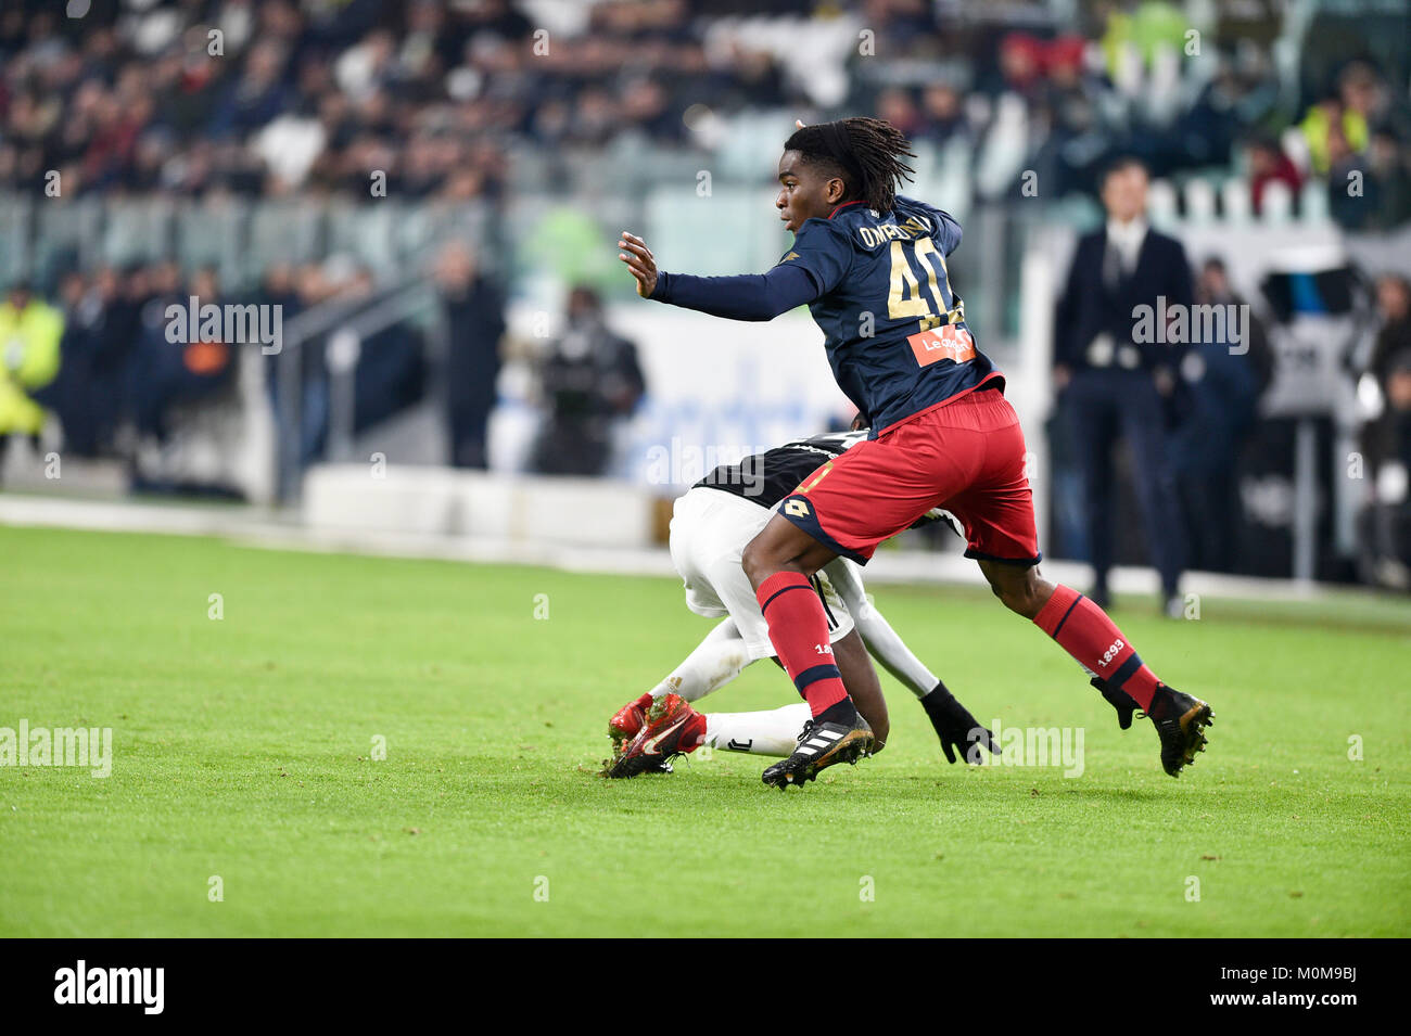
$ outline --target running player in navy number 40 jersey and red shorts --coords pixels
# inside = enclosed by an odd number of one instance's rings
[[[800,123],[779,159],[775,200],[794,244],[768,273],[667,273],[642,238],[624,231],[618,241],[642,297],[735,320],[772,320],[807,304],[838,386],[873,430],[806,478],[744,553],[770,643],[813,713],[810,740],[828,746],[794,751],[763,781],[803,784],[871,750],[809,579],[834,557],[865,564],[879,543],[937,506],[959,517],[965,554],[1010,610],[1146,712],[1161,765],[1177,777],[1204,750],[1211,706],[1158,681],[1092,600],[1038,575],[1024,436],[945,265],[961,227],[896,193],[913,172],[906,155],[906,137],[878,118]]]

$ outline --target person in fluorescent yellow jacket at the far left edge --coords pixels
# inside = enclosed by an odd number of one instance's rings
[[[44,407],[34,393],[59,372],[63,317],[17,283],[0,303],[0,436],[37,436]]]

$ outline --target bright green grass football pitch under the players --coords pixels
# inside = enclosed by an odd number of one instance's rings
[[[708,629],[670,579],[21,529],[0,558],[0,726],[113,727],[106,779],[0,768],[3,936],[1411,935],[1407,600],[1119,602],[1215,706],[1173,781],[988,593],[876,586],[982,720],[1084,727],[1085,772],[947,765],[883,675],[888,750],[780,794],[727,753],[595,775]],[[761,664],[704,708],[790,701]]]

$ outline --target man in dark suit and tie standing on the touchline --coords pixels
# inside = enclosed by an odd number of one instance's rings
[[[1185,345],[1167,341],[1164,320],[1184,306],[1188,321],[1191,268],[1180,241],[1147,226],[1141,162],[1125,158],[1108,166],[1101,195],[1106,226],[1078,241],[1054,323],[1054,382],[1084,482],[1095,574],[1091,596],[1108,606],[1116,509],[1112,448],[1126,438],[1164,608],[1180,617],[1185,543],[1167,434]]]

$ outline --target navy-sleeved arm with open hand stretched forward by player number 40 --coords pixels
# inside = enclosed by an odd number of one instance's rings
[[[773,320],[818,297],[813,279],[797,266],[779,265],[768,273],[728,278],[667,273],[656,268],[646,241],[626,231],[618,238],[618,259],[632,273],[636,293],[643,299],[731,320]]]

